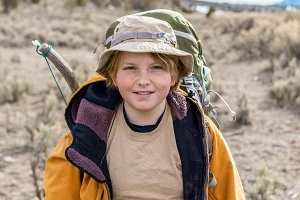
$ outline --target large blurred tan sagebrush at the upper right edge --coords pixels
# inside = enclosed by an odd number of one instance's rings
[[[240,52],[241,59],[276,58],[283,52],[289,59],[294,56],[300,59],[300,13],[276,13],[280,16],[277,20],[272,18],[275,14],[252,15],[248,19],[236,19],[238,34],[232,47]],[[225,26],[224,30],[227,29]]]

